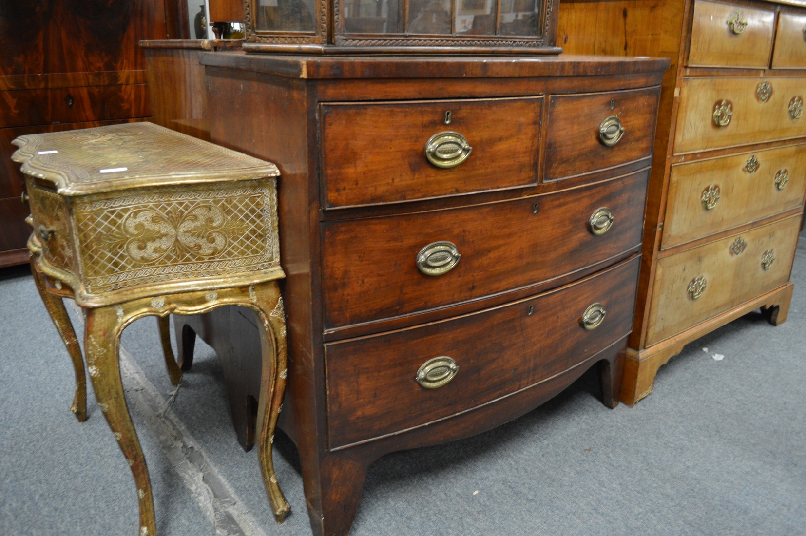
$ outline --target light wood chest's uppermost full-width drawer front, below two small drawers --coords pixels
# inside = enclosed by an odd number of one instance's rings
[[[758,86],[764,81],[771,85],[772,93],[762,102]],[[683,79],[675,154],[806,135],[806,114],[798,115],[793,103],[798,99],[806,99],[804,77]],[[731,115],[728,124],[719,127],[714,115],[723,102],[729,105]],[[796,117],[790,115],[791,103]]]

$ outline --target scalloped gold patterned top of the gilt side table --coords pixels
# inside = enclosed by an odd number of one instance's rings
[[[274,164],[153,123],[23,135],[11,158],[60,195],[277,177]]]

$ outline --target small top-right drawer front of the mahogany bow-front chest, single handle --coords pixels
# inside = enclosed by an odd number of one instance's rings
[[[552,96],[546,141],[546,181],[613,168],[650,156],[660,88]],[[624,132],[615,145],[600,127],[618,118]]]

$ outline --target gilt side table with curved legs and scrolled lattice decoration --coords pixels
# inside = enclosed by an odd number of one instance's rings
[[[85,420],[84,363],[62,297],[85,312],[87,370],[135,478],[139,534],[156,534],[156,525],[145,459],[123,397],[120,334],[137,318],[156,315],[166,335],[168,314],[222,305],[255,310],[265,328],[259,457],[281,521],[289,505],[274,476],[271,445],[286,376],[276,166],[152,123],[23,135],[13,143],[34,227],[31,268],[73,358],[73,412]],[[181,371],[169,343],[167,350],[176,384]]]

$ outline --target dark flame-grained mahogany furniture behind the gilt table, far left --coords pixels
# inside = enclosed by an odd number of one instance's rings
[[[172,35],[172,14],[172,0],[0,0],[0,266],[28,260],[11,140],[147,118],[138,42]]]

